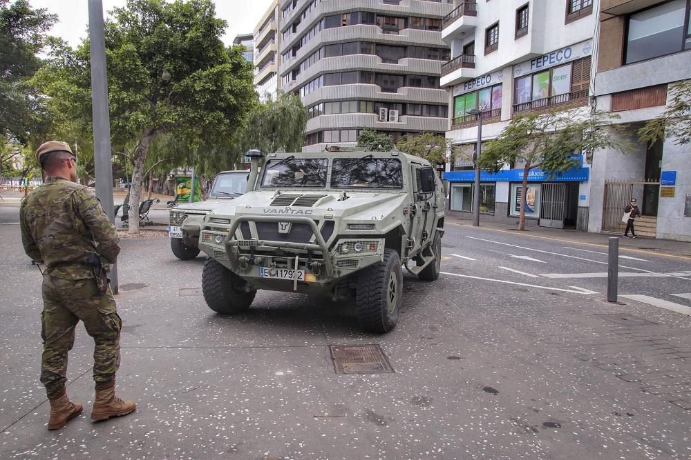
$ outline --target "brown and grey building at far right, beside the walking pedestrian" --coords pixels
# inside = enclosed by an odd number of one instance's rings
[[[690,0],[601,0],[596,106],[618,114],[634,147],[595,152],[591,232],[621,232],[631,197],[643,213],[636,232],[691,241],[691,154],[667,137],[641,143],[636,131],[671,101],[675,82],[691,78]]]

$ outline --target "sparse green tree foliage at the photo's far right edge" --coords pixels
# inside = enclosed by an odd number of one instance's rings
[[[676,138],[674,143],[680,145],[691,142],[691,80],[674,83],[670,95],[672,103],[667,109],[638,130],[641,142],[664,141],[665,138]]]

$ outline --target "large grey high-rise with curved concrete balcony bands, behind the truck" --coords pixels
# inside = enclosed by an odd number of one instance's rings
[[[310,112],[307,152],[354,146],[362,128],[446,131],[439,86],[449,0],[280,0],[279,76]]]

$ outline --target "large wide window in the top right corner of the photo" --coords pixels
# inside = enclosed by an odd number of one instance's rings
[[[632,14],[628,20],[625,63],[691,49],[691,30],[684,30],[687,3],[674,0]]]

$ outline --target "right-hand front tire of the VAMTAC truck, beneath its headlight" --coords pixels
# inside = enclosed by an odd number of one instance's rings
[[[384,261],[362,270],[357,286],[357,320],[366,332],[389,332],[398,322],[403,273],[397,252],[387,249]]]

